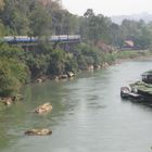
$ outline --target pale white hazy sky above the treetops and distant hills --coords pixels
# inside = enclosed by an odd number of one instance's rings
[[[152,0],[62,0],[64,9],[71,13],[83,15],[93,9],[103,15],[128,15],[148,12],[152,14]]]

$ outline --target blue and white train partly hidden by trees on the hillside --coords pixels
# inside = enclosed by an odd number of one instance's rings
[[[50,42],[55,41],[79,41],[80,35],[55,35],[47,37]],[[14,42],[37,42],[39,40],[38,37],[29,37],[29,36],[4,36],[1,38],[2,41],[14,43]]]

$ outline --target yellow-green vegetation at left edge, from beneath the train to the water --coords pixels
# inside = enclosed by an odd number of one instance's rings
[[[22,49],[0,48],[0,97],[13,96],[28,80],[28,67],[22,62]]]

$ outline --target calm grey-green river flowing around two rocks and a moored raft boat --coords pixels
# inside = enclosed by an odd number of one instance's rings
[[[119,88],[140,79],[151,60],[126,61],[73,80],[23,88],[24,101],[0,106],[0,152],[151,152],[152,106],[123,101]],[[51,102],[48,115],[30,113]],[[31,137],[30,128],[51,128]]]

